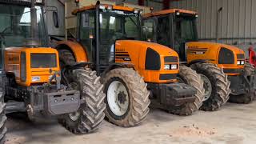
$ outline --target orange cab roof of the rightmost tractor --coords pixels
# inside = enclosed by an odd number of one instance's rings
[[[159,15],[164,15],[164,14],[173,14],[177,11],[180,12],[180,13],[185,13],[185,14],[198,14],[198,13],[196,13],[194,11],[190,11],[190,10],[170,9],[170,10],[160,10],[160,11],[157,11],[157,12],[144,14],[143,18],[150,18],[150,17],[153,17],[153,16],[159,16]]]

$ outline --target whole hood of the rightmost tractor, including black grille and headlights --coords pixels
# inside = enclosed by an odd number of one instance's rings
[[[238,74],[245,65],[245,52],[235,46],[214,42],[187,42],[187,62],[208,61],[228,74]]]

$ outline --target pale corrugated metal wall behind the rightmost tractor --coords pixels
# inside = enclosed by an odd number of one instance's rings
[[[246,46],[256,45],[256,0],[180,0],[170,2],[171,8],[198,11],[199,38],[216,38],[217,11],[218,37],[222,43]]]

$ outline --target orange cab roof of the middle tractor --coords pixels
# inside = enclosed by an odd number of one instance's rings
[[[128,6],[116,6],[116,5],[108,5],[108,4],[101,4],[101,6],[105,6],[106,8],[108,6],[112,6],[112,10],[124,10],[124,11],[130,11],[130,12],[134,11],[134,8],[130,8]],[[83,6],[82,8],[74,10],[72,14],[78,14],[79,12],[82,12],[85,10],[94,10],[95,8],[96,8],[96,5]]]

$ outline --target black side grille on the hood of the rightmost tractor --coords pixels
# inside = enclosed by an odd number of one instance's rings
[[[219,64],[234,64],[234,53],[232,50],[222,47],[218,54]]]

